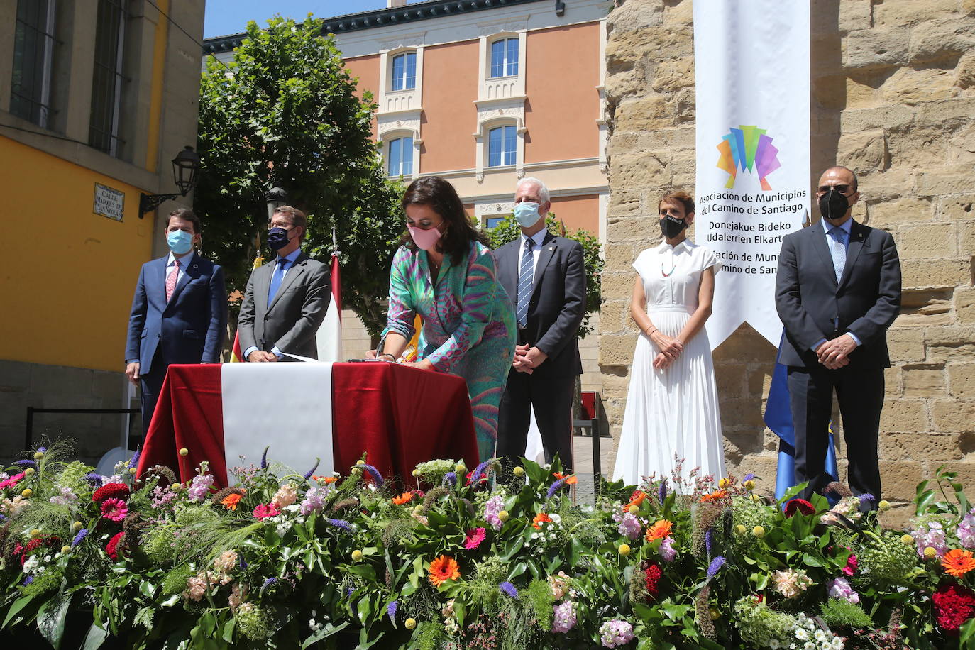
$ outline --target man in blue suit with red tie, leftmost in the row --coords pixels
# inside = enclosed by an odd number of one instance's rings
[[[170,363],[219,363],[227,325],[223,269],[194,249],[200,218],[175,210],[166,222],[170,253],[142,265],[129,317],[126,376],[142,386],[142,433],[149,430]]]

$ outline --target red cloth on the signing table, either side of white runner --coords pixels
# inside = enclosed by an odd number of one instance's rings
[[[325,364],[323,371],[328,371]],[[471,402],[460,377],[398,363],[332,363],[331,403],[337,472],[345,474],[364,452],[386,478],[409,479],[418,463],[435,458],[462,458],[468,467],[478,463]],[[288,426],[287,416],[281,424]],[[171,365],[138,459],[138,476],[165,465],[186,481],[196,476],[201,461],[209,461],[215,484],[225,487],[224,435],[233,432],[223,431],[220,366]],[[273,459],[273,432],[267,440]],[[185,456],[179,455],[181,448],[188,450]],[[260,459],[247,460],[256,465]]]

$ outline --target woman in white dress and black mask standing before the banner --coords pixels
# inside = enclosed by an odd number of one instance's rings
[[[664,241],[633,262],[630,316],[641,335],[613,479],[670,478],[681,462],[683,484],[675,487],[689,492],[694,468],[698,476],[724,474],[715,367],[704,329],[720,265],[714,252],[687,239],[694,219],[690,195],[667,194],[658,209]]]

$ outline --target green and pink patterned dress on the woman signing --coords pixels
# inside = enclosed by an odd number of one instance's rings
[[[397,250],[389,274],[389,321],[382,338],[395,331],[409,341],[415,314],[423,319],[417,361],[429,359],[439,372],[459,375],[467,382],[478,449],[485,461],[494,455],[497,406],[517,334],[511,300],[496,280],[490,249],[474,242],[457,266],[445,255],[436,287],[424,251]]]

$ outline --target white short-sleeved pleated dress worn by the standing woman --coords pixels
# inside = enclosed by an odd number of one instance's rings
[[[667,336],[677,336],[697,309],[701,273],[721,269],[715,253],[684,240],[645,249],[633,262],[643,280],[646,313]],[[643,478],[671,477],[675,456],[683,459],[682,476],[724,474],[722,418],[715,385],[708,333],[702,327],[685,342],[674,363],[653,367],[659,348],[645,334],[637,340],[623,431],[616,451],[613,479],[640,484]]]

